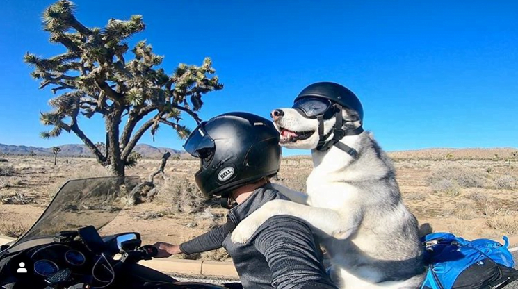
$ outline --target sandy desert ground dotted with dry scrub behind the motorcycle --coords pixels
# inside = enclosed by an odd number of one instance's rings
[[[389,154],[396,165],[405,204],[434,231],[464,238],[518,234],[518,149],[429,149]],[[67,179],[108,174],[92,158],[0,156],[0,234],[19,236],[28,228]],[[0,160],[1,161],[1,160]],[[67,163],[68,162],[68,163]],[[127,175],[147,176],[160,161],[141,160]],[[204,205],[193,183],[195,160],[170,160],[166,181],[156,177],[159,193],[152,202],[127,206],[102,232],[138,231],[144,242],[179,243],[225,222],[225,210]],[[311,159],[284,158],[279,182],[305,189]],[[220,261],[224,251],[202,256]]]

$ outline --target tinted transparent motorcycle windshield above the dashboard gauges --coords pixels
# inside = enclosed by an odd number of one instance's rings
[[[52,237],[61,231],[76,231],[89,225],[101,229],[119,214],[125,205],[121,198],[137,182],[137,178],[118,177],[67,181],[38,221],[15,241],[9,251],[36,239],[40,239],[39,243],[50,243]]]

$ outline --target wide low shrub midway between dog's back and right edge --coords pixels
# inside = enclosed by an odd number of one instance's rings
[[[432,185],[443,179],[457,183],[460,188],[481,188],[485,185],[486,174],[462,165],[450,164],[433,170],[428,175],[427,182]]]

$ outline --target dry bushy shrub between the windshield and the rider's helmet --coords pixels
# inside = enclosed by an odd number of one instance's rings
[[[171,176],[160,187],[156,200],[183,213],[197,213],[207,208],[207,199],[193,181],[181,176]]]

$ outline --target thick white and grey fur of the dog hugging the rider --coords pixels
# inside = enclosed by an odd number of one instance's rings
[[[264,204],[238,224],[232,240],[246,242],[273,215],[293,215],[314,227],[340,288],[419,288],[424,269],[417,221],[401,200],[394,165],[373,135],[363,132],[341,140],[358,151],[357,159],[337,147],[317,151],[318,121],[291,108],[282,110],[284,115],[275,119],[279,131],[314,131],[305,140],[282,133],[281,140],[284,147],[312,149],[307,195],[275,185],[291,201]],[[344,109],[342,115],[345,128],[361,125],[355,112]],[[325,133],[333,126],[334,117],[326,120]]]

